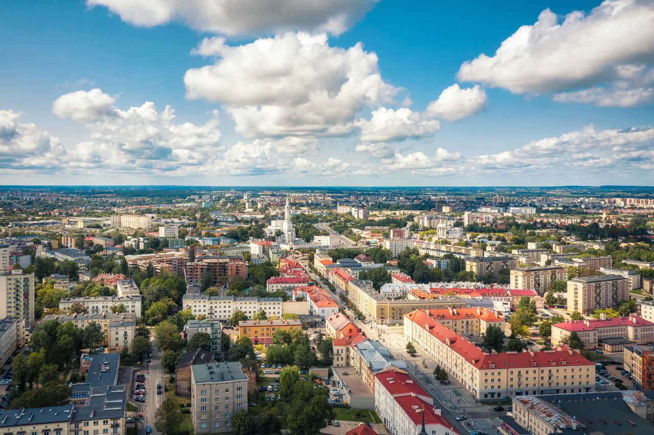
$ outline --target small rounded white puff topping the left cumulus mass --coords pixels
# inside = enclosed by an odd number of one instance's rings
[[[61,95],[52,103],[52,111],[60,118],[88,122],[114,115],[115,102],[114,97],[94,88]]]

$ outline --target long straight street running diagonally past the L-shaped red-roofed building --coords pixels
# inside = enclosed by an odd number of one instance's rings
[[[421,384],[424,391],[431,393],[437,406],[443,410],[445,418],[447,418],[447,420],[452,423],[460,433],[469,433],[470,428],[464,427],[464,423],[472,421],[475,423],[475,430],[481,429],[485,432],[488,432],[490,428],[498,425],[498,422],[494,419],[494,414],[500,414],[492,413],[490,407],[475,402],[475,398],[472,394],[462,387],[462,385],[460,385],[455,379],[451,380],[451,384],[447,386],[438,383],[433,374],[434,369],[436,368],[436,361],[424,357],[420,358],[420,352],[416,354],[418,356],[415,358],[406,355],[406,341],[404,340],[404,330],[402,327],[387,327],[386,325],[377,326],[371,325],[370,322],[357,320],[354,313],[343,305],[341,300],[338,298],[338,295],[335,295],[330,291],[329,287],[322,282],[320,276],[311,272],[305,262],[301,261],[300,264],[309,273],[311,278],[313,278],[322,289],[326,290],[334,301],[339,304],[347,314],[349,314],[354,325],[360,327],[366,333],[368,338],[382,342],[390,349],[396,359],[402,359],[407,362],[409,368],[412,369],[411,375],[413,378]],[[424,366],[422,362],[424,362]],[[430,383],[427,383],[426,379],[429,379]],[[468,420],[463,422],[456,421],[455,417],[462,413],[465,413],[465,415],[468,416]]]

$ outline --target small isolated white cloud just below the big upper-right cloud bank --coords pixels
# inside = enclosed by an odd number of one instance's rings
[[[458,121],[475,115],[486,105],[486,93],[479,85],[461,89],[458,84],[445,88],[436,101],[432,101],[425,110],[426,116]]]

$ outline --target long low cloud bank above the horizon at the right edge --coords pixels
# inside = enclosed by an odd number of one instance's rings
[[[597,130],[593,125],[529,142],[521,148],[470,159],[483,170],[561,173],[575,168],[611,172],[645,169],[654,149],[654,127]],[[628,164],[627,164],[628,162]]]

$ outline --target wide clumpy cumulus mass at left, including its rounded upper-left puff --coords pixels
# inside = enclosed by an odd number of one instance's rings
[[[88,131],[90,140],[75,147],[80,167],[104,161],[114,169],[171,175],[211,170],[220,161],[218,112],[203,125],[175,123],[175,110],[158,112],[152,101],[121,110],[101,89],[61,95],[53,111]]]

